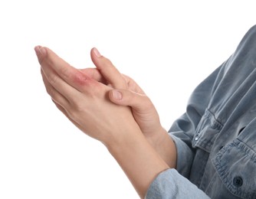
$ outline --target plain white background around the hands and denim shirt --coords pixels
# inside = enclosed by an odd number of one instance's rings
[[[0,198],[138,198],[107,149],[46,94],[34,46],[75,67],[97,47],[153,100],[162,126],[255,24],[254,1],[0,2]]]

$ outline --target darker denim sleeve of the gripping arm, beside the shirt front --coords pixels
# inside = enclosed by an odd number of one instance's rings
[[[185,178],[190,176],[192,162],[195,157],[195,148],[192,147],[195,130],[205,114],[212,93],[215,92],[216,82],[218,82],[220,74],[223,73],[224,66],[225,63],[195,88],[189,98],[186,113],[180,116],[169,129],[169,135],[176,144],[176,170]]]

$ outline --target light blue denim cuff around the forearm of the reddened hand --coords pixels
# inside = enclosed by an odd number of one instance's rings
[[[150,184],[146,199],[169,198],[210,198],[202,190],[192,184],[187,178],[179,175],[178,171],[170,168],[162,171]]]

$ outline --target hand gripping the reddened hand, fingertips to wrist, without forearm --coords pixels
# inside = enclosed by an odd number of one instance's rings
[[[155,106],[139,85],[130,77],[121,74],[106,57],[94,54],[91,58],[97,68],[80,70],[92,79],[110,86],[109,98],[113,103],[132,108],[134,119],[147,139],[153,139],[159,132],[165,131],[160,123]],[[165,131],[166,132],[166,131]]]

